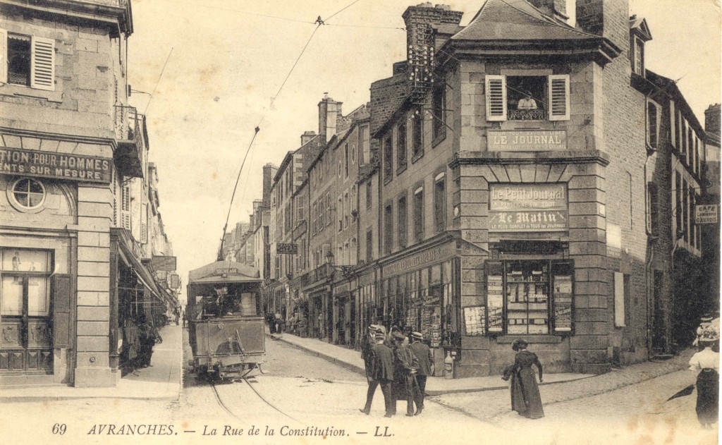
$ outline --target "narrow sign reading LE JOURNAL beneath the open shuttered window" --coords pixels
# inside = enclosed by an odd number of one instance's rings
[[[564,130],[489,130],[487,137],[487,150],[492,152],[567,150],[567,132]]]

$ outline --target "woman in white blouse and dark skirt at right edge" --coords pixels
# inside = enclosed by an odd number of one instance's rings
[[[712,428],[719,410],[719,331],[707,330],[700,336],[703,350],[690,358],[690,371],[697,374],[697,420],[702,428]],[[714,349],[714,350],[713,350]]]

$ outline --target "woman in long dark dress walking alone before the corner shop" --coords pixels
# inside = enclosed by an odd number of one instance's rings
[[[528,343],[524,340],[514,340],[511,348],[515,351],[513,366],[504,370],[504,380],[511,377],[511,409],[530,419],[544,417],[544,409],[541,407],[539,386],[536,385],[536,377],[531,366],[539,369],[539,383],[542,380],[541,363],[536,354],[526,350]]]

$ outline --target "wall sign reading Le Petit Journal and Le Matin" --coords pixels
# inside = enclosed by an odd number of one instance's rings
[[[565,184],[490,184],[490,232],[554,232],[567,228]]]

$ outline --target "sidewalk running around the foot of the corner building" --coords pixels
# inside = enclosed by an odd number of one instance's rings
[[[330,343],[321,342],[316,338],[301,338],[287,333],[280,336],[269,334],[267,329],[266,335],[280,342],[284,342],[287,345],[297,347],[311,355],[329,360],[331,363],[336,363],[343,368],[365,375],[364,363],[361,359],[361,354],[357,350],[331,345]],[[616,389],[687,368],[687,362],[690,360],[691,355],[691,350],[687,350],[670,360],[638,363],[626,366],[621,370],[614,370],[610,373],[602,374],[601,376],[577,373],[544,373],[544,383],[540,385],[560,384],[592,378],[595,386],[599,383],[601,384],[599,386],[604,386],[607,389]],[[457,392],[492,391],[506,388],[508,388],[508,383],[503,381],[500,376],[469,377],[466,379],[430,377],[426,382],[426,393],[430,396]]]

